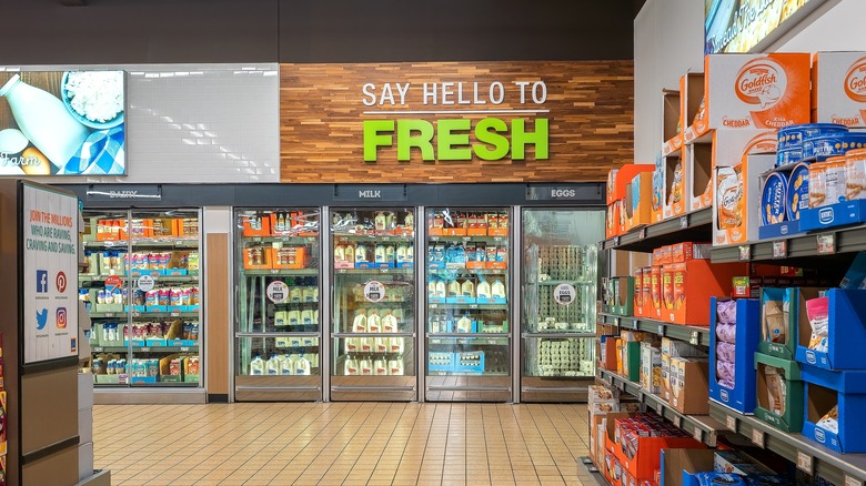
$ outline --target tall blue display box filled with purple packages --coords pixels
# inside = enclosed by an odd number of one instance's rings
[[[722,404],[741,414],[752,415],[755,412],[757,403],[755,391],[757,387],[757,375],[755,374],[755,352],[757,352],[758,341],[761,341],[761,300],[758,298],[737,298],[736,302],[736,325],[733,331],[733,340],[719,338],[718,314],[716,312],[718,303],[729,301],[727,298],[711,298],[711,323],[709,323],[709,399]],[[725,334],[723,332],[722,334]],[[731,343],[729,341],[733,341]],[[721,364],[718,356],[718,345],[727,343],[734,345],[734,362]],[[723,383],[719,378],[722,368],[733,366],[733,385]]]

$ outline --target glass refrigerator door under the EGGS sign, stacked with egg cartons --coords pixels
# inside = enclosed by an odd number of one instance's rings
[[[521,401],[586,399],[602,239],[603,211],[524,209]]]

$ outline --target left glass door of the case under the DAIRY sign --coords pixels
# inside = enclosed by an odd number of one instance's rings
[[[129,229],[127,211],[84,211],[87,272],[78,276],[79,300],[91,320],[93,383],[127,386],[129,374]]]

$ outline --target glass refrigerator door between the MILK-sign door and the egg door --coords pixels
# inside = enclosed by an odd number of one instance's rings
[[[426,399],[511,401],[511,212],[427,211]]]

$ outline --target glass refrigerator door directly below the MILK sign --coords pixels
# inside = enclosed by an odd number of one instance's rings
[[[415,211],[331,212],[331,399],[416,399]]]

